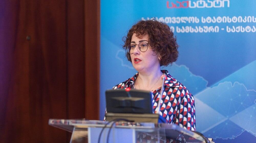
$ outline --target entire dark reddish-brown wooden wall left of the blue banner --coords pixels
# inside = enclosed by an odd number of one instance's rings
[[[69,142],[99,119],[100,0],[0,1],[0,142]]]

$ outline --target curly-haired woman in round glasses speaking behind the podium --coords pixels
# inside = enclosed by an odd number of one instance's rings
[[[126,57],[138,71],[133,77],[116,85],[113,89],[147,90],[153,93],[153,110],[156,111],[160,97],[162,80],[166,74],[159,114],[168,123],[175,123],[187,130],[195,131],[195,100],[188,89],[173,78],[167,66],[178,58],[178,45],[169,26],[155,20],[139,21],[129,30],[123,39]]]

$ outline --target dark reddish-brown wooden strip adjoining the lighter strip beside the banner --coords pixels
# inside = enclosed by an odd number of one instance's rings
[[[68,118],[84,118],[84,2],[67,2]]]

